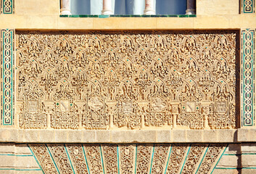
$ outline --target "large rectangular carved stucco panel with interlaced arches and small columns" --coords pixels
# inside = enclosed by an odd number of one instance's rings
[[[20,128],[236,128],[236,31],[16,36]]]

